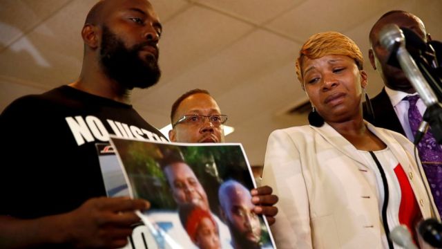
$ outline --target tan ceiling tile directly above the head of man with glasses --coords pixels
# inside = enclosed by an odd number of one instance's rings
[[[194,88],[220,95],[293,61],[295,46],[287,39],[256,30],[173,80],[160,82],[155,86],[155,92],[144,94],[146,104],[153,109],[162,109],[165,107],[160,102],[169,102],[166,108],[169,111],[175,98]],[[142,100],[137,98],[137,101]]]

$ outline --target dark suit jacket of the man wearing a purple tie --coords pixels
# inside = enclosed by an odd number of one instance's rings
[[[364,119],[372,123],[376,127],[390,129],[398,133],[405,135],[405,131],[402,128],[401,122],[399,122],[396,112],[388,98],[385,88],[381,93],[370,99],[373,107],[373,116],[369,116],[367,112],[367,104],[363,103]]]

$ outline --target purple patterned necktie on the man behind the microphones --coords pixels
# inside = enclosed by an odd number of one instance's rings
[[[422,122],[421,113],[419,113],[419,109],[417,109],[416,106],[419,95],[409,95],[403,99],[410,102],[408,121],[410,122],[413,136],[416,136],[416,131]],[[417,145],[417,149],[419,151],[419,158],[421,158],[423,171],[430,184],[434,203],[436,203],[437,210],[439,210],[439,214],[442,216],[442,149],[441,145],[434,139],[430,128]]]

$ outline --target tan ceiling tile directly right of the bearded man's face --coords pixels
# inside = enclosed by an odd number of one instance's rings
[[[215,55],[251,29],[248,24],[198,6],[185,10],[164,25],[160,41],[163,80]]]

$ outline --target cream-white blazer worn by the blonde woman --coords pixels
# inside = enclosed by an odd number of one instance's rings
[[[423,218],[439,219],[430,208],[436,210],[425,192],[428,183],[419,176],[412,142],[400,133],[365,124],[401,163]],[[381,214],[376,193],[364,176],[371,170],[367,165],[357,149],[327,123],[273,131],[261,184],[273,187],[279,197],[276,223],[271,226],[276,246],[382,248]]]

